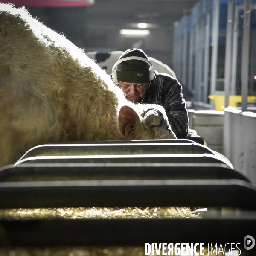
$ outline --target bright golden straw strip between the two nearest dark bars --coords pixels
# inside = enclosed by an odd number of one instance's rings
[[[125,208],[31,208],[0,209],[0,219],[20,218],[200,218],[188,207],[125,207]]]

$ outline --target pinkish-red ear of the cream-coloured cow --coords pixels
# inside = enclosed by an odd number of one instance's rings
[[[121,134],[128,137],[130,130],[136,122],[140,122],[138,114],[129,106],[122,106],[118,115],[119,130]]]

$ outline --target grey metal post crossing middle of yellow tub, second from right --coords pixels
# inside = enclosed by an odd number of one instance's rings
[[[231,44],[232,44],[232,20],[233,20],[233,0],[228,1],[227,29],[226,29],[226,50],[225,50],[225,108],[228,107],[230,95],[230,70],[231,70]]]

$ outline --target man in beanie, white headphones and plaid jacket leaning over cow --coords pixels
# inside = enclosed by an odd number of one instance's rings
[[[142,57],[145,61],[132,58],[122,61],[127,57]],[[143,50],[128,49],[120,56],[119,63],[113,66],[113,80],[118,82],[129,101],[163,106],[172,131],[177,137],[186,137],[189,119],[181,84],[168,74],[152,70],[147,60]]]

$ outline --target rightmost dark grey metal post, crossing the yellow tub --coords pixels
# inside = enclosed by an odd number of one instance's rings
[[[248,71],[250,48],[250,5],[251,0],[245,0],[244,4],[244,33],[242,49],[242,112],[247,110],[248,95]]]

